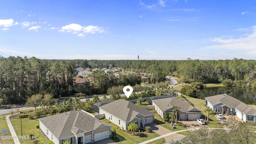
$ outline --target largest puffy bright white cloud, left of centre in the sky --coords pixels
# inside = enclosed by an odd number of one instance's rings
[[[81,26],[80,24],[69,24],[66,26],[62,26],[60,32],[71,32],[73,34],[78,34],[77,36],[84,37],[84,34],[95,34],[102,33],[104,29],[98,26]]]

